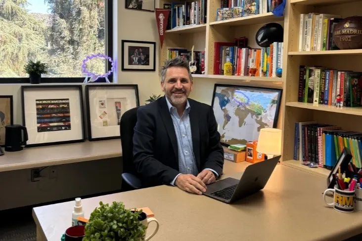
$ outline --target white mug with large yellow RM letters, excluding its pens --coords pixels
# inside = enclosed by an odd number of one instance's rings
[[[326,193],[333,192],[333,201],[327,202],[325,200]],[[337,188],[337,185],[334,188],[328,188],[323,193],[323,200],[325,203],[334,207],[335,210],[345,213],[351,213],[355,210],[355,194],[356,190],[353,191],[344,191]]]

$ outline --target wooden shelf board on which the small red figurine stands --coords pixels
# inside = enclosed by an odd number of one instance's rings
[[[317,111],[328,111],[348,115],[362,116],[362,107],[335,107],[329,105],[312,104],[304,102],[287,102],[286,106],[298,107]]]

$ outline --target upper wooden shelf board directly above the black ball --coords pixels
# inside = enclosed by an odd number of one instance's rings
[[[253,16],[215,21],[215,22],[211,22],[210,25],[211,26],[233,27],[233,26],[269,23],[269,22],[274,22],[274,21],[283,21],[283,17],[277,17],[273,13],[268,12],[268,13],[253,15]]]

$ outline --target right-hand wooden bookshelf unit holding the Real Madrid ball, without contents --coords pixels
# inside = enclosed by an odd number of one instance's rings
[[[329,170],[310,168],[294,159],[295,123],[301,121],[317,121],[340,126],[343,130],[362,131],[362,107],[336,108],[331,105],[298,102],[299,68],[305,66],[323,66],[339,71],[362,71],[362,49],[298,51],[300,14],[325,13],[338,14],[342,18],[361,15],[359,9],[362,0],[289,0],[286,4],[284,33],[287,32],[288,47],[286,63],[283,66],[284,79],[284,112],[283,143],[281,163],[287,166],[327,177]],[[285,38],[284,38],[285,41]]]

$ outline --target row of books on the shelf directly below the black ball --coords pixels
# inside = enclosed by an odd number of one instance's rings
[[[215,42],[214,53],[214,75],[224,74],[227,58],[233,65],[232,73],[235,76],[276,77],[276,70],[283,64],[282,42],[274,42],[265,48],[239,47],[232,42]]]

